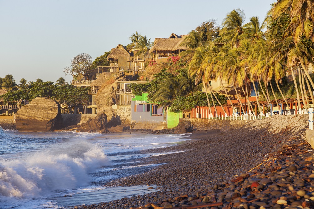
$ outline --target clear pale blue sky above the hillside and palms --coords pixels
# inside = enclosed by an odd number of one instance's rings
[[[127,45],[138,31],[153,42],[171,33],[188,34],[206,20],[221,24],[240,8],[263,20],[274,0],[0,0],[0,77],[54,81],[81,53],[93,59]]]

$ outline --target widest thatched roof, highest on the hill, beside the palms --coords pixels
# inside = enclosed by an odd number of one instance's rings
[[[187,35],[178,36],[176,34],[171,34],[169,39],[165,38],[155,38],[154,46],[150,48],[149,53],[154,53],[158,51],[176,51],[176,50],[187,50],[187,47],[180,46]]]

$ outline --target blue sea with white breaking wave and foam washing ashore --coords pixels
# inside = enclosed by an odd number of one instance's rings
[[[104,187],[156,165],[141,150],[187,140],[180,134],[17,132],[0,127],[0,208],[67,208],[151,192]]]

